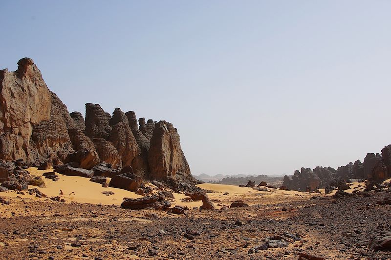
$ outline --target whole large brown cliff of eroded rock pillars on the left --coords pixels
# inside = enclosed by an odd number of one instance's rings
[[[137,119],[116,108],[112,116],[99,104],[86,104],[86,119],[69,114],[49,91],[33,60],[23,58],[18,70],[0,71],[0,159],[30,164],[76,162],[91,169],[105,161],[113,168],[132,166],[151,180],[195,182],[171,123]]]

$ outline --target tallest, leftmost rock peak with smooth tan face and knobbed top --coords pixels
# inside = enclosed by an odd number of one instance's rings
[[[33,124],[50,119],[51,96],[41,72],[29,58],[18,69],[0,70],[0,159],[31,160]]]

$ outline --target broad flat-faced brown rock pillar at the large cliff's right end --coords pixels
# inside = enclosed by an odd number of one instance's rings
[[[179,135],[171,123],[159,121],[155,124],[151,147],[148,153],[151,177],[166,180],[177,172],[190,174],[190,168],[180,148]]]

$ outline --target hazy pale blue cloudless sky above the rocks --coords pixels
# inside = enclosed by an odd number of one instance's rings
[[[192,173],[293,174],[391,143],[391,1],[1,3],[0,68],[32,58],[69,112],[166,120]]]

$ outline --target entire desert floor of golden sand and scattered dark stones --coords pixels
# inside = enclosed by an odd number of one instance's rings
[[[29,171],[37,176],[46,172]],[[183,202],[184,194],[174,194],[173,206],[190,209],[185,215],[173,215],[122,209],[124,197],[141,196],[103,188],[83,177],[60,175],[57,182],[45,180],[45,184],[39,190],[46,198],[28,192],[0,193],[10,202],[0,204],[0,259],[296,260],[303,252],[325,259],[391,259],[391,252],[368,249],[373,236],[391,231],[391,205],[376,204],[390,197],[389,192],[333,199],[314,193],[200,184],[214,191],[208,195],[217,208],[234,200],[249,206],[200,210],[200,201]],[[60,189],[65,203],[48,199],[59,196]],[[105,190],[114,195],[102,194]],[[265,239],[288,241],[288,246],[254,253],[252,248],[259,248]]]

